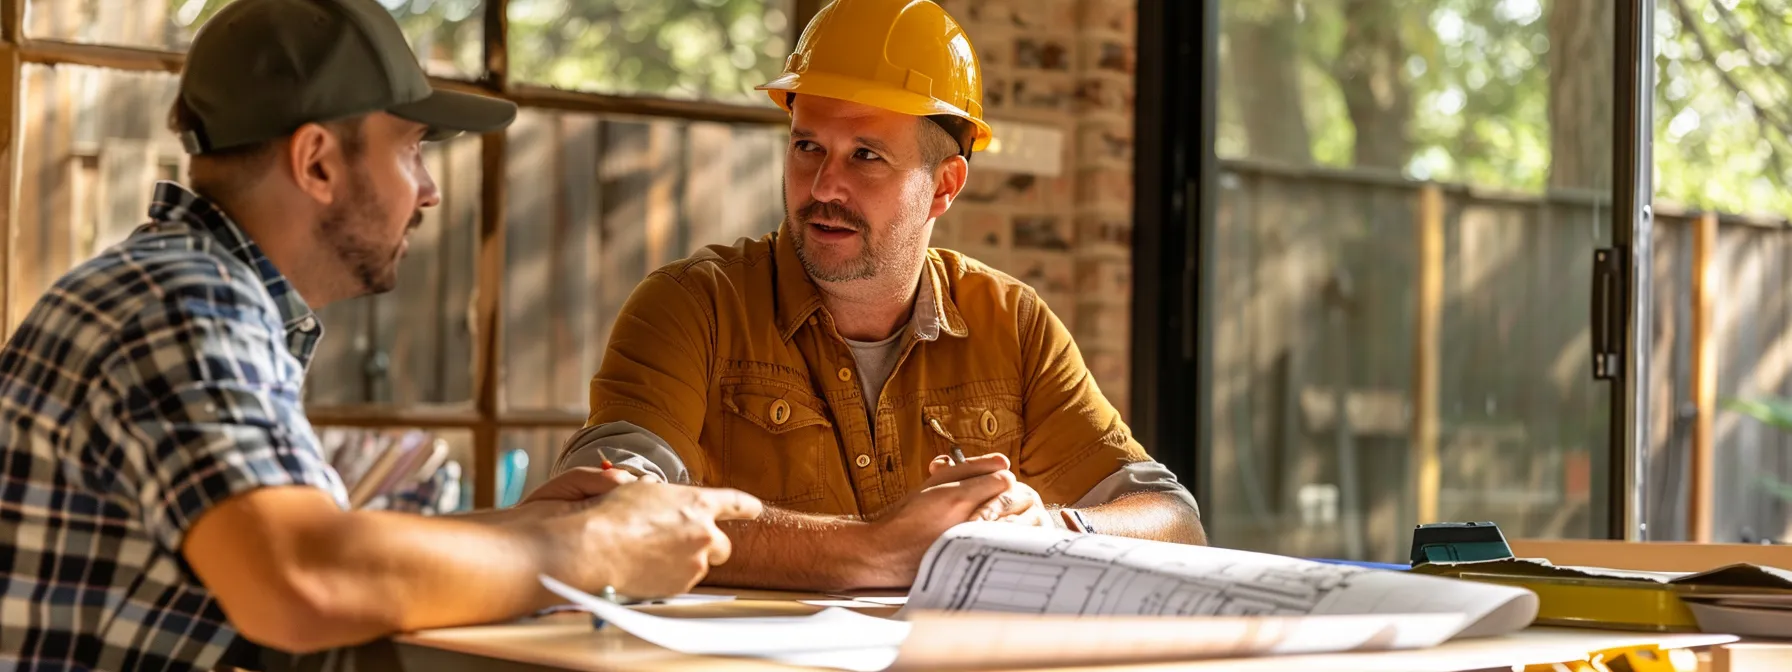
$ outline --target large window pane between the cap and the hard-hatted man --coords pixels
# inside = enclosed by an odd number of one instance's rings
[[[584,414],[652,269],[778,228],[783,127],[525,109],[509,129],[504,403]]]

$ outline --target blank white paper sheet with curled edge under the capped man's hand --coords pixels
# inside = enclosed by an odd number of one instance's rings
[[[541,584],[606,624],[654,645],[697,656],[747,656],[785,665],[876,672],[896,659],[910,625],[830,607],[808,616],[665,618],[593,597],[543,575]]]

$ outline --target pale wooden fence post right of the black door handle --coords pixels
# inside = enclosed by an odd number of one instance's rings
[[[1692,493],[1686,502],[1686,532],[1692,541],[1711,541],[1713,421],[1717,419],[1717,333],[1715,299],[1717,213],[1693,222],[1692,235],[1692,455],[1686,461]]]

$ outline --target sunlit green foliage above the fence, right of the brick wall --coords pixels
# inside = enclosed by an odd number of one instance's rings
[[[1557,16],[1588,0],[1228,0],[1222,7],[1222,156],[1374,167],[1362,143],[1403,147],[1398,170],[1417,179],[1543,192],[1550,185],[1609,190],[1609,142],[1575,145],[1588,179],[1552,179],[1561,170],[1552,125],[1573,136],[1609,134],[1606,115],[1577,115],[1588,100],[1609,104],[1609,77],[1593,79],[1597,97],[1554,86],[1557,66],[1586,54],[1611,54],[1609,14]],[[1787,0],[1661,0],[1656,16],[1654,170],[1658,199],[1726,211],[1792,215],[1792,16]],[[1577,23],[1579,22],[1579,23]],[[1378,30],[1366,30],[1373,23]],[[1385,39],[1366,36],[1392,36]],[[1271,52],[1260,45],[1292,45]],[[1394,50],[1391,50],[1394,48]],[[1297,72],[1274,77],[1276,59]],[[1362,68],[1374,59],[1398,68]],[[1609,63],[1602,65],[1609,68]],[[1559,75],[1559,73],[1557,73]],[[1260,84],[1292,86],[1265,93]],[[1378,124],[1353,95],[1405,106]],[[1602,97],[1602,99],[1600,99]],[[1274,104],[1278,109],[1265,109]],[[1285,111],[1296,109],[1297,115]],[[1595,122],[1606,120],[1606,122]],[[1296,125],[1297,124],[1297,125]],[[1271,127],[1278,125],[1278,127]],[[1389,131],[1398,129],[1398,131]],[[1306,152],[1272,147],[1269,138],[1308,138]],[[1256,140],[1256,142],[1253,142]],[[1563,138],[1557,136],[1555,143]]]

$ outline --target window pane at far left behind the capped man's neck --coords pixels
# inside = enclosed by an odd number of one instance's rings
[[[75,263],[149,219],[156,179],[185,174],[165,120],[176,77],[25,65],[11,324]]]

